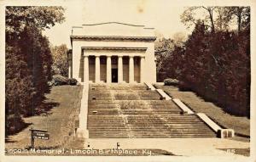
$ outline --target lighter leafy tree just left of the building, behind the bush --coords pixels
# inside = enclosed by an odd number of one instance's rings
[[[50,50],[53,56],[53,74],[68,76],[67,45],[50,47]]]

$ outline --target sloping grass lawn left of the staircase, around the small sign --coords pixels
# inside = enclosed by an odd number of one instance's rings
[[[82,86],[52,87],[41,105],[47,107],[38,115],[24,118],[30,126],[15,135],[6,137],[5,148],[28,148],[31,144],[31,127],[48,130],[49,140],[35,139],[36,148],[69,148],[74,138],[75,120],[78,119]],[[83,142],[77,142],[78,146]]]

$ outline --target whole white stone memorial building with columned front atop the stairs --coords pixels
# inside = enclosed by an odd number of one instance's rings
[[[153,28],[117,22],[73,27],[69,77],[79,82],[156,82]]]

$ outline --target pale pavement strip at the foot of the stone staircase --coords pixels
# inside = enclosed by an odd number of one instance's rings
[[[221,148],[250,148],[249,142],[241,142],[216,137],[196,138],[89,138],[84,142],[84,148],[90,143],[90,148],[116,148],[117,142],[123,149],[162,149],[180,156],[234,156]],[[235,150],[236,151],[236,150]]]

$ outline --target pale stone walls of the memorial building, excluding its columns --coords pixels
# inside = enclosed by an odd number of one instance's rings
[[[73,37],[74,36],[74,37]],[[78,36],[75,38],[75,36]],[[91,39],[83,40],[83,36],[90,37]],[[128,36],[130,38],[135,37],[136,39],[93,39],[93,37],[102,37],[107,36],[115,38],[124,38]],[[119,36],[119,37],[117,37]],[[143,81],[156,82],[156,65],[154,62],[154,42],[152,39],[137,39],[154,37],[154,29],[148,28],[144,25],[127,25],[124,23],[118,22],[108,22],[95,25],[82,25],[73,27],[72,31],[72,48],[73,48],[73,67],[72,75],[73,78],[76,78],[78,81],[83,81],[84,78],[84,54],[85,55],[143,55],[145,58],[144,67],[143,67]],[[154,40],[154,39],[153,39]],[[104,50],[92,50],[84,51],[83,47],[143,47],[146,48],[146,51],[104,51]],[[126,58],[126,57],[125,57]],[[125,58],[123,58],[125,60]],[[128,58],[129,59],[129,58]],[[124,81],[129,81],[129,62],[125,64],[123,61],[123,76]],[[136,63],[136,61],[135,61]],[[93,68],[90,64],[90,80],[95,78],[95,72],[93,73]],[[140,82],[140,61],[134,65],[134,76],[135,81]],[[105,65],[101,65],[101,80],[104,81],[105,76]],[[92,74],[93,73],[93,74]]]

